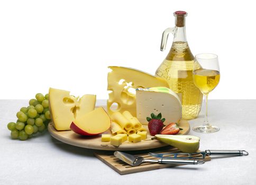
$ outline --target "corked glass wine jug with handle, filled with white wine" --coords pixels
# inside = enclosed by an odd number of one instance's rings
[[[182,118],[194,119],[200,112],[203,94],[193,82],[194,56],[186,39],[187,12],[177,11],[173,15],[176,26],[164,30],[161,51],[166,48],[169,33],[174,35],[174,39],[169,54],[156,71],[156,76],[166,79],[170,89],[180,97]]]

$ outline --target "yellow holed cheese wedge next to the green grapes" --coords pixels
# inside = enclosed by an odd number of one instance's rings
[[[69,91],[49,89],[49,109],[54,128],[58,131],[70,130],[76,117],[94,110],[95,95],[84,95],[80,99],[71,96]]]

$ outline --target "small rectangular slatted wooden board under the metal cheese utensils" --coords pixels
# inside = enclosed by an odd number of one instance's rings
[[[173,152],[180,152],[180,151],[170,146],[162,147],[161,149],[154,149],[154,150],[127,151],[127,153],[130,153],[133,155],[143,156],[143,158],[145,159],[159,159],[159,158],[155,158],[153,156],[148,155],[148,152],[173,153]],[[142,163],[139,166],[130,166],[129,164],[126,164],[120,159],[116,158],[116,156],[114,156],[113,151],[95,152],[94,155],[100,161],[104,162],[106,165],[108,165],[110,168],[112,168],[113,170],[115,170],[117,173],[121,175],[183,165],[183,164]],[[205,159],[200,159],[200,160],[210,161],[211,158],[209,156],[206,156]],[[198,168],[200,168],[199,164],[198,164]]]

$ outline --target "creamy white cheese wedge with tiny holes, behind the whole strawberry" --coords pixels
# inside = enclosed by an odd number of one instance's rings
[[[147,117],[151,113],[162,114],[166,118],[165,125],[181,119],[182,108],[178,95],[166,87],[136,89],[137,118],[147,125]]]

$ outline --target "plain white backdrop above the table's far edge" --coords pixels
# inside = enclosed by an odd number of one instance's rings
[[[107,95],[107,66],[152,75],[173,12],[187,16],[194,54],[220,59],[221,82],[209,99],[255,99],[253,1],[1,1],[0,99],[29,99],[49,87]]]

